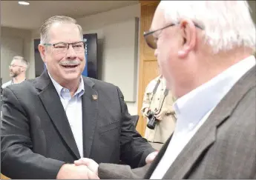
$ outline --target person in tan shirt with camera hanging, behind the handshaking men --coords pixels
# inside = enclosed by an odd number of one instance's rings
[[[147,120],[144,137],[157,150],[160,150],[174,131],[176,117],[173,103],[174,97],[171,90],[166,87],[166,81],[162,75],[150,81],[145,89],[141,112]],[[155,121],[155,127],[150,127],[152,121]]]

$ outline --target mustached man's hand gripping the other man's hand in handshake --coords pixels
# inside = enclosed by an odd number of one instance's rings
[[[99,177],[85,165],[64,164],[60,168],[56,179],[99,179]]]

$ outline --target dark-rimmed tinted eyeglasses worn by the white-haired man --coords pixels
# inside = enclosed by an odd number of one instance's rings
[[[151,30],[151,31],[148,31],[148,32],[145,32],[143,34],[144,36],[144,39],[145,39],[145,42],[148,44],[148,47],[151,47],[153,50],[157,49],[157,41],[156,39],[154,38],[153,36],[153,33],[159,31],[159,30],[164,30],[165,28],[167,27],[172,27],[172,26],[175,26],[179,23],[173,23],[173,24],[168,24],[167,26],[165,27],[162,27],[160,29],[157,29],[157,30]],[[203,30],[203,27],[200,27],[198,24],[194,23],[194,26],[197,27],[197,28],[200,28],[201,30]]]

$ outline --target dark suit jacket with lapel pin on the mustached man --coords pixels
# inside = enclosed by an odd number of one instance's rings
[[[154,149],[135,130],[118,87],[84,77],[84,157],[140,167]],[[93,99],[93,95],[97,99]],[[52,81],[39,78],[4,88],[1,173],[11,179],[56,179],[62,164],[79,159],[68,118]]]

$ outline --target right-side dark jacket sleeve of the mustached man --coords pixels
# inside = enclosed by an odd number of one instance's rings
[[[122,110],[120,159],[132,168],[142,167],[145,165],[145,159],[148,154],[156,150],[154,150],[151,144],[137,132],[134,124],[131,122],[131,115],[128,113],[124,96],[119,90],[119,87],[117,87],[117,91],[119,93],[119,102]]]

